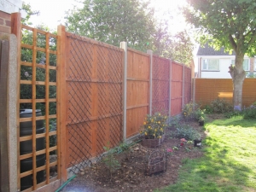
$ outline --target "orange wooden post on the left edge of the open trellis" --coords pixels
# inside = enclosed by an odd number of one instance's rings
[[[20,44],[21,44],[21,16],[20,13],[14,13],[11,15],[11,33],[15,34],[17,38],[17,56],[16,56],[16,99],[19,101],[20,100]],[[16,136],[16,141],[20,140],[20,102],[16,102],[16,131],[17,136]],[[17,150],[16,153],[20,155],[20,143],[17,142]],[[19,155],[17,155],[17,174],[16,174],[16,189],[20,189],[20,159]],[[14,176],[13,176],[14,177]]]

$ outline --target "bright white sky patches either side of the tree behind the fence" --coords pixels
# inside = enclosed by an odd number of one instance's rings
[[[33,26],[44,23],[50,29],[56,30],[57,26],[65,24],[64,15],[68,9],[73,9],[78,5],[75,0],[23,0],[30,3],[32,10],[39,10],[39,16],[32,16]],[[151,0],[152,6],[156,10],[158,19],[164,18],[164,13],[170,12],[173,20],[170,20],[170,30],[172,32],[182,31],[185,21],[181,13],[177,11],[177,6],[185,3],[185,0]]]

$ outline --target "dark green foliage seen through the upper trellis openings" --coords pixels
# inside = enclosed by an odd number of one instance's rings
[[[38,29],[49,31],[47,26],[38,26]],[[30,44],[33,42],[33,33],[30,30],[22,31],[22,44]],[[49,48],[52,50],[56,50],[56,39],[49,39],[50,45]],[[37,38],[37,46],[41,48],[45,48],[46,46],[46,37],[45,35],[38,33]],[[21,61],[32,62],[32,49],[21,49]],[[44,65],[46,60],[46,55],[42,51],[37,51],[36,62],[39,65]],[[49,54],[49,65],[56,66],[56,55]],[[45,81],[45,69],[37,67],[36,68],[36,80],[37,81]],[[32,80],[32,67],[21,66],[20,67],[20,79],[21,80]],[[56,82],[56,71],[49,70],[49,82]],[[37,99],[45,98],[45,86],[44,85],[36,85],[36,96]],[[49,98],[56,98],[56,86],[49,86]],[[32,99],[32,86],[30,84],[20,84],[20,99]],[[32,108],[31,103],[21,103],[20,109],[22,108]],[[43,115],[45,114],[45,104],[37,103],[36,108],[41,109]],[[56,103],[50,102],[49,104],[49,114],[56,113]]]

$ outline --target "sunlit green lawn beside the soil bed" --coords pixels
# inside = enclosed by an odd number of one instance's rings
[[[256,191],[256,120],[218,119],[205,126],[204,156],[184,160],[177,183],[156,191]]]

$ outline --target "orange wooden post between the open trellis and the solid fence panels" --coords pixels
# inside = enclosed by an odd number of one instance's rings
[[[58,137],[58,175],[61,183],[67,181],[67,136],[66,136],[66,31],[65,26],[58,26],[57,43],[57,135]]]

